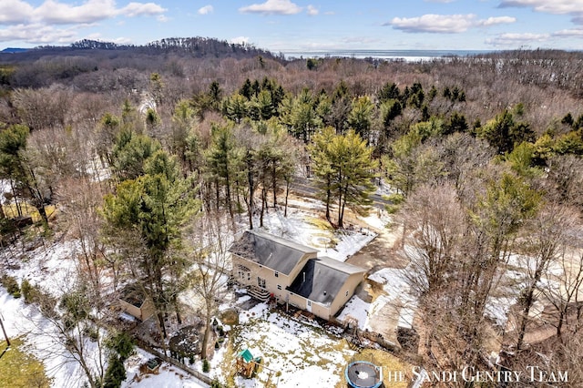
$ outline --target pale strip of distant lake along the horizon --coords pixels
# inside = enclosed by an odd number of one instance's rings
[[[324,58],[324,57],[352,57],[403,59],[404,61],[419,61],[441,58],[444,56],[474,56],[487,54],[495,50],[281,50],[286,59],[291,58]]]

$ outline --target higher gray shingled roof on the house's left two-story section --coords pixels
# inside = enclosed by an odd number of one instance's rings
[[[289,275],[307,253],[318,252],[311,247],[259,230],[245,231],[230,246],[229,251],[285,275]]]

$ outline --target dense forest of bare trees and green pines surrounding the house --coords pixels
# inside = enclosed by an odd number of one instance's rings
[[[3,246],[25,239],[15,219],[26,207],[43,239],[81,241],[75,288],[60,302],[34,293],[65,336],[128,279],[152,296],[166,336],[164,315],[179,316],[187,288],[208,301],[210,320],[220,236],[235,223],[261,227],[265,211],[287,206],[295,177],[313,179],[322,219],[338,229],[345,209],[367,211],[382,179],[389,227],[403,230],[387,254],[414,270],[413,357],[481,368],[503,350],[509,368],[544,364],[580,383],[581,68],[580,52],[286,60],[208,38],[0,54]],[[517,255],[529,261],[506,332],[486,302]],[[537,301],[553,328],[544,340],[528,335]],[[107,371],[87,370],[92,386]]]

